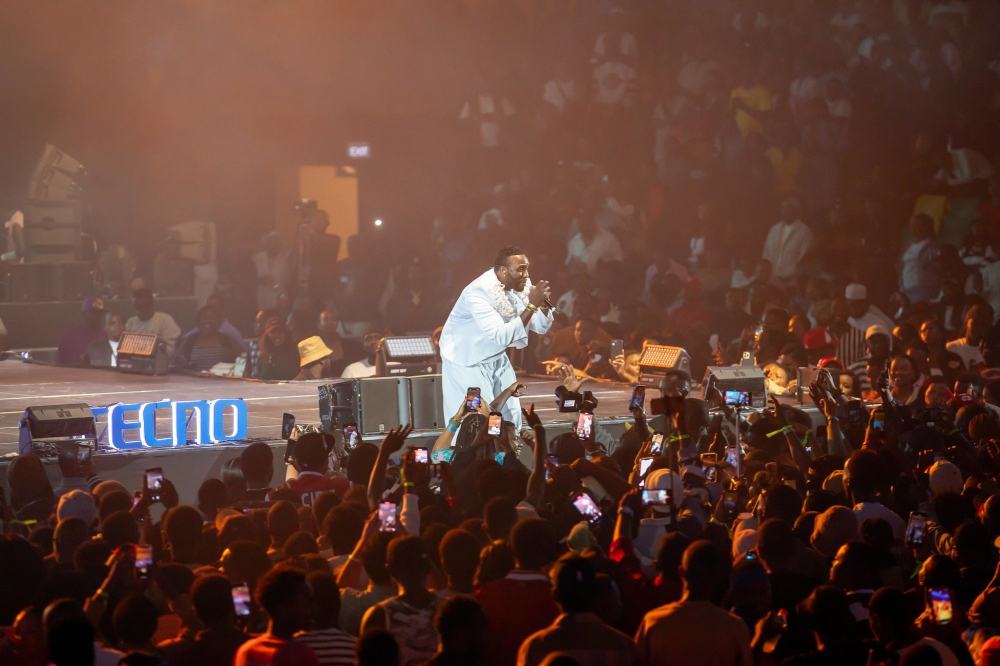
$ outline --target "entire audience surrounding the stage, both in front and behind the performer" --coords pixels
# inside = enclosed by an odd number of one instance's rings
[[[580,57],[526,44],[517,85],[470,86],[420,234],[332,261],[311,211],[223,280],[256,284],[252,335],[213,297],[182,337],[139,291],[128,321],[84,303],[60,361],[111,365],[128,329],[196,371],[374,374],[516,239],[558,314],[515,365],[577,390],[636,383],[647,343],[695,380],[750,352],[825,426],[670,372],[617,439],[548,438],[533,409],[491,434],[463,403],[428,451],[303,433],[280,485],[255,443],[197,497],[89,463],[53,488],[20,456],[0,661],[1000,663],[998,5],[527,4]]]

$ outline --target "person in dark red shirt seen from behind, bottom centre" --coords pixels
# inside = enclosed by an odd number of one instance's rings
[[[510,545],[517,568],[476,593],[490,618],[490,666],[514,666],[524,639],[559,616],[552,584],[542,573],[558,555],[552,526],[541,518],[523,520],[511,530]]]

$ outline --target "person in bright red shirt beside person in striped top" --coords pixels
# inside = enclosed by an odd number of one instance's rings
[[[233,666],[319,666],[311,648],[292,640],[309,629],[311,597],[304,572],[281,565],[268,571],[254,594],[270,618],[267,633],[244,643]]]

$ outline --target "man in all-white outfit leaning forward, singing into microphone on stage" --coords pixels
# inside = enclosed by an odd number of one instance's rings
[[[441,332],[445,418],[455,412],[469,388],[479,388],[488,404],[516,382],[507,348],[523,349],[529,330],[545,333],[552,325],[545,305],[549,283],[531,284],[524,252],[505,247],[493,263],[462,291]],[[520,430],[520,400],[509,398],[500,411]]]

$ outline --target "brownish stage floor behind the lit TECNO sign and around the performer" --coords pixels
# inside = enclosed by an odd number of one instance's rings
[[[242,398],[247,403],[247,436],[278,441],[281,414],[294,414],[299,423],[319,423],[317,387],[330,380],[263,383],[185,374],[151,377],[115,370],[64,368],[10,359],[0,362],[0,455],[17,451],[17,422],[29,406],[85,402],[91,406],[118,402]],[[523,377],[528,386],[523,405],[535,403],[545,424],[568,425],[571,414],[555,406],[558,382],[546,377]],[[584,390],[598,399],[597,420],[602,423],[629,418],[627,384],[588,382]],[[166,418],[166,417],[164,417]],[[166,426],[164,426],[166,427]]]

